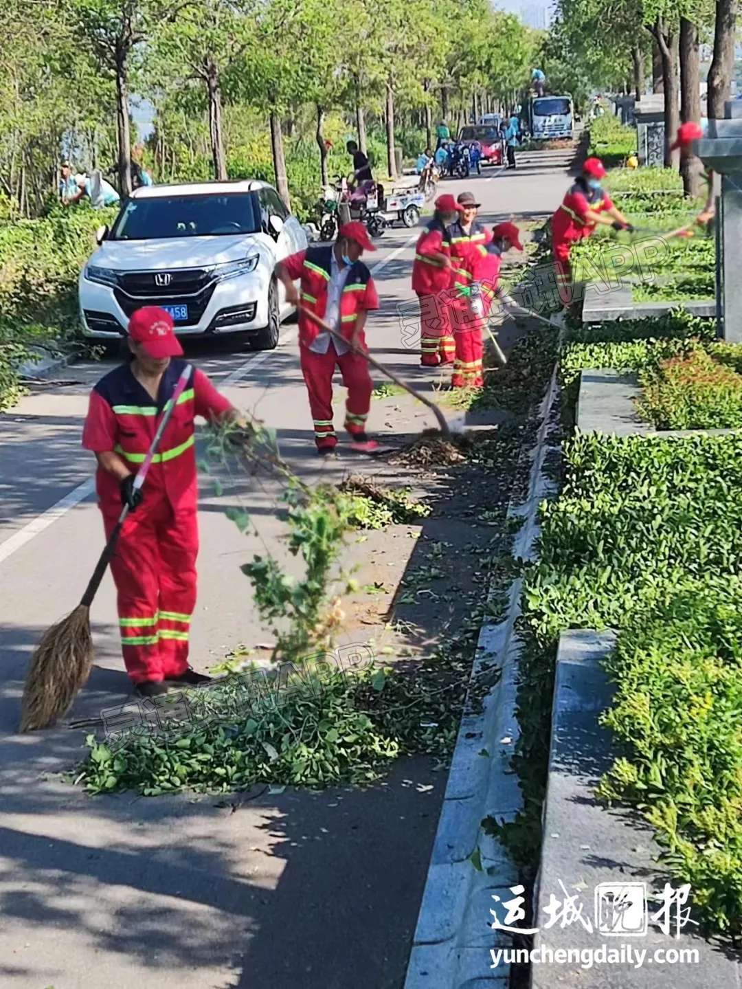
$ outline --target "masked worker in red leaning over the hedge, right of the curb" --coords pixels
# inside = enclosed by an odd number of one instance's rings
[[[615,230],[628,230],[633,226],[604,192],[601,179],[606,169],[600,158],[588,158],[582,173],[570,186],[564,200],[551,218],[551,246],[556,269],[556,286],[562,305],[572,302],[572,269],[569,252],[572,245],[589,237],[596,225],[613,226]]]

